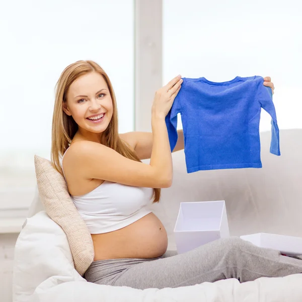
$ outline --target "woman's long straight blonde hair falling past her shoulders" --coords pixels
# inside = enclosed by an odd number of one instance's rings
[[[63,103],[67,101],[66,96],[71,83],[81,77],[81,75],[89,72],[98,72],[102,75],[108,85],[112,99],[113,114],[107,129],[102,135],[102,143],[130,160],[141,162],[127,143],[118,135],[116,98],[107,73],[96,62],[91,60],[81,60],[68,65],[61,73],[55,86],[56,92],[51,132],[51,163],[62,175],[63,172],[59,157],[63,156],[74,134],[78,130],[78,124],[75,123],[72,116],[68,116],[63,111]],[[153,203],[159,202],[160,195],[161,189],[155,188]]]

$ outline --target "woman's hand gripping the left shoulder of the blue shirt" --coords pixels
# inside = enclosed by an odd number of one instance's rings
[[[152,114],[165,118],[170,111],[183,80],[181,75],[171,80],[167,85],[157,90],[152,104]]]

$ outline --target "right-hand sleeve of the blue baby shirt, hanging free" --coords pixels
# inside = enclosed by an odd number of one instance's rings
[[[257,83],[258,82],[258,83]],[[271,145],[270,145],[270,153],[274,155],[280,155],[280,142],[279,142],[279,127],[277,124],[276,110],[273,103],[273,94],[270,87],[266,87],[263,85],[263,78],[261,81],[257,81],[257,99],[263,108],[272,118],[271,120]]]

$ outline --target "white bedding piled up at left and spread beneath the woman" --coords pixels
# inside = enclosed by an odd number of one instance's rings
[[[87,282],[74,269],[65,233],[45,211],[40,211],[27,219],[17,240],[13,299],[14,302],[301,302],[302,274],[245,283],[228,279],[163,289],[98,285]]]

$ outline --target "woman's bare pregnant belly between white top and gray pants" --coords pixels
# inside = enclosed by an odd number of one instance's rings
[[[149,213],[125,228],[92,234],[94,261],[120,258],[156,258],[168,247],[168,236],[161,220]]]

